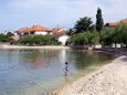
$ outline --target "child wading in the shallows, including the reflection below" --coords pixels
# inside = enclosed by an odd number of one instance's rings
[[[65,77],[65,84],[68,84],[70,83],[70,66],[67,62],[65,62],[64,77]]]

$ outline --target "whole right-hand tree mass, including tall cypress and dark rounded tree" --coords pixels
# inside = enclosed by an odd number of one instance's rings
[[[117,27],[107,28],[104,25],[102,10],[98,8],[96,23],[88,17],[76,21],[74,28],[70,30],[71,38],[67,44],[73,45],[95,45],[121,44],[127,45],[127,24],[119,23]]]

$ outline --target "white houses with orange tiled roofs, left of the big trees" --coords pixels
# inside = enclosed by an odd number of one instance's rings
[[[62,45],[65,45],[65,43],[68,39],[67,30],[64,28],[50,29],[50,28],[45,28],[45,27],[41,27],[41,25],[33,25],[32,28],[21,28],[21,29],[17,30],[15,33],[17,33],[17,35],[19,35],[19,38],[22,38],[25,35],[51,34],[56,40],[59,40],[62,43]]]

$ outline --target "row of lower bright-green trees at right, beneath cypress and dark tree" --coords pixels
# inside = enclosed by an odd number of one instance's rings
[[[127,45],[127,24],[119,24],[115,28],[104,28],[102,31],[82,31],[74,33],[67,41],[67,44],[74,45],[112,45],[112,44]]]

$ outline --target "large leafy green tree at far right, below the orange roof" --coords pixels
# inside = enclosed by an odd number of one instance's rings
[[[105,28],[100,32],[100,43],[110,45],[113,43],[127,43],[127,24],[119,24],[116,28]]]

